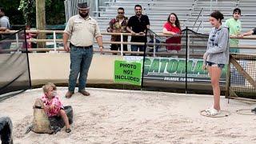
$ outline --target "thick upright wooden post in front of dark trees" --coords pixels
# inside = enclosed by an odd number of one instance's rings
[[[37,30],[46,29],[46,0],[36,0]],[[45,33],[39,33],[38,39],[46,39]],[[37,47],[46,47],[46,42],[38,42]]]

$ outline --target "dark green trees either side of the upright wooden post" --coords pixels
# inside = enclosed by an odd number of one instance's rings
[[[11,25],[36,25],[35,0],[0,0],[0,6],[6,10]],[[46,25],[64,24],[64,0],[46,0]]]

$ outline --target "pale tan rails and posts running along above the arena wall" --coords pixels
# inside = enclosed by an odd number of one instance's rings
[[[16,30],[8,30],[5,32],[0,32],[0,34],[14,34],[15,32],[17,32]],[[58,43],[62,43],[62,39],[57,39],[56,38],[56,34],[63,34],[63,30],[27,30],[27,33],[46,33],[46,34],[54,34],[54,38],[53,39],[28,39],[27,42],[54,42],[54,51],[64,51],[63,48],[58,48],[57,47],[57,42]],[[124,35],[126,36],[131,36],[132,34],[130,33],[107,33],[107,32],[103,32],[102,35],[121,35],[121,37],[123,37]],[[145,34],[141,34],[138,36],[145,36]],[[156,34],[153,35],[154,38],[156,36]],[[170,34],[158,34],[158,36],[160,37],[170,37],[172,35]],[[178,37],[183,37],[182,34],[179,34]],[[195,35],[191,35],[190,38],[196,38],[197,36]],[[207,35],[206,35],[207,37]],[[256,35],[254,36],[246,36],[244,38],[240,38],[237,36],[231,36],[230,38],[238,38],[238,39],[249,39],[249,40],[256,40]],[[121,38],[122,41],[121,42],[110,42],[110,41],[103,41],[103,44],[120,44],[121,47],[123,48],[123,45],[140,45],[143,46],[145,45],[144,42],[123,42],[123,38]],[[2,42],[24,42],[24,39],[18,39],[17,34],[16,34],[16,39],[12,39],[12,40],[2,40]],[[96,41],[94,42],[96,43]],[[155,50],[156,46],[182,46],[181,44],[173,44],[173,43],[158,43],[156,41],[152,42],[152,43],[147,43],[148,46],[152,46],[154,49],[154,53],[153,55],[155,56],[156,54],[158,54]],[[203,50],[206,49],[206,45],[204,44],[199,44],[199,45],[194,45],[193,42],[189,43],[190,48],[197,48],[198,50]],[[247,49],[247,50],[256,50],[256,46],[252,46],[252,45],[239,45],[239,46],[230,46],[230,48],[238,48],[238,49]],[[118,53],[118,54],[131,54],[130,52],[127,51],[123,51],[123,49],[121,48],[120,52],[117,51],[112,51],[112,53]],[[61,50],[60,50],[61,49]],[[31,50],[31,49],[30,49]],[[40,48],[33,48],[32,51],[40,51]],[[46,51],[49,51],[49,48],[46,48]],[[110,50],[111,51],[111,50]],[[95,51],[97,52],[97,50]],[[108,53],[108,52],[106,52]],[[140,54],[139,52],[132,52],[134,54]],[[159,55],[159,54],[158,54]]]

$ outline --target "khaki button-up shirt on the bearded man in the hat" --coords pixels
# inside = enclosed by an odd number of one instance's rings
[[[94,18],[84,19],[79,14],[69,19],[64,33],[69,34],[74,46],[92,46],[94,38],[101,37],[98,22]]]

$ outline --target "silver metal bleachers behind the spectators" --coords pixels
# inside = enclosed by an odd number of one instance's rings
[[[162,32],[162,26],[168,15],[176,13],[182,29],[187,26],[198,33],[207,34],[212,27],[209,23],[209,15],[212,11],[220,10],[224,14],[223,22],[225,22],[226,19],[232,17],[236,7],[242,10],[242,32],[252,29],[256,24],[255,0],[109,0],[105,4],[106,6],[100,6],[100,11],[94,12],[98,15],[94,18],[98,20],[102,32],[106,32],[110,19],[116,17],[118,7],[124,7],[126,16],[130,17],[134,15],[136,4],[142,5],[143,14],[150,18],[150,29],[156,33]],[[109,40],[110,37],[105,37],[105,39]]]

